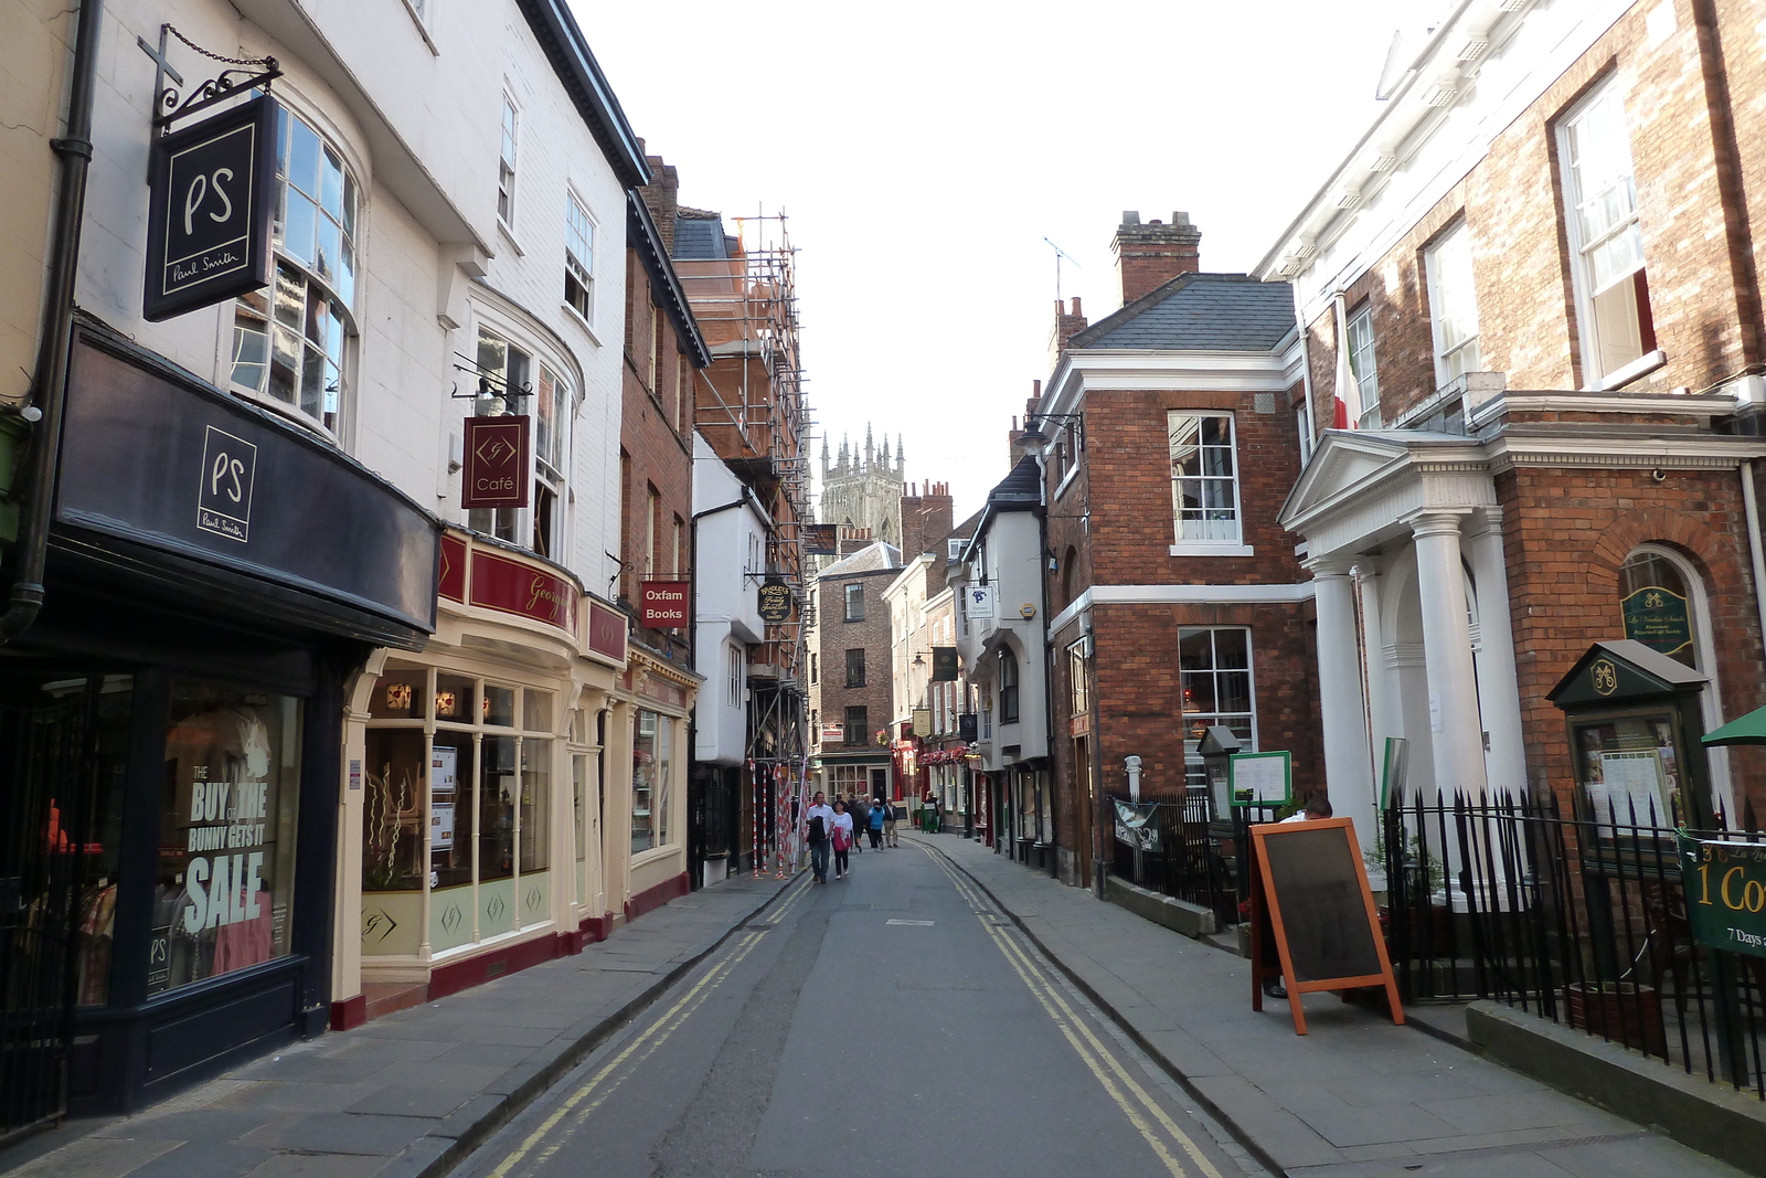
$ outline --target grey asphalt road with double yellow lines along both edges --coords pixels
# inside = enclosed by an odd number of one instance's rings
[[[456,1178],[1264,1171],[913,846],[805,872]]]

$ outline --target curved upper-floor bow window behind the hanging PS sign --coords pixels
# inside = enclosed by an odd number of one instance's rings
[[[233,314],[233,387],[325,431],[337,429],[357,334],[358,198],[343,154],[300,115],[277,117],[279,196],[270,288]]]

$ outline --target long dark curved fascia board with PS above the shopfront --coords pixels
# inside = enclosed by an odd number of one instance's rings
[[[434,631],[433,516],[336,447],[150,364],[90,336],[74,346],[60,528],[164,553],[166,569],[194,562],[212,570],[198,574],[210,595],[270,583],[265,593],[288,600],[295,590],[307,615],[383,643]]]

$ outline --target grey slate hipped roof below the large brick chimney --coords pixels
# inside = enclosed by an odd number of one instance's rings
[[[1249,274],[1180,274],[1074,336],[1068,348],[1270,351],[1294,330],[1287,283]]]

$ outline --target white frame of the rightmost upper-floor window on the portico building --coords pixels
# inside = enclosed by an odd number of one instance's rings
[[[1619,136],[1625,140],[1623,148],[1628,171],[1621,178],[1621,191],[1604,191],[1596,194],[1596,198],[1611,196],[1621,203],[1628,203],[1630,208],[1614,215],[1612,223],[1600,231],[1598,237],[1589,240],[1582,217],[1582,208],[1589,203],[1589,198],[1582,193],[1582,171],[1579,168],[1581,161],[1575,132],[1589,124],[1598,113],[1607,111],[1616,115]],[[1642,320],[1637,314],[1635,302],[1632,304],[1632,314],[1635,320],[1634,330],[1637,332],[1637,355],[1619,360],[1618,364],[1612,364],[1612,367],[1607,367],[1607,362],[1602,357],[1604,346],[1600,337],[1600,314],[1596,313],[1595,300],[1614,291],[1621,283],[1632,283],[1635,290],[1637,274],[1648,276],[1648,261],[1642,251],[1642,228],[1637,215],[1635,159],[1632,157],[1625,102],[1619,94],[1618,79],[1609,78],[1586,94],[1563,118],[1558,120],[1554,132],[1558,136],[1558,168],[1563,182],[1563,221],[1570,240],[1570,290],[1575,297],[1575,325],[1582,353],[1582,387],[1591,392],[1618,389],[1619,385],[1637,380],[1644,373],[1649,373],[1667,362],[1667,357],[1660,348],[1644,348],[1646,343],[1655,344],[1655,341],[1646,341],[1642,337]],[[1595,253],[1604,247],[1616,245],[1625,238],[1628,238],[1630,253],[1634,254],[1630,268],[1626,268],[1625,274],[1612,277],[1596,291],[1593,261]],[[1646,277],[1646,300],[1648,290]]]

